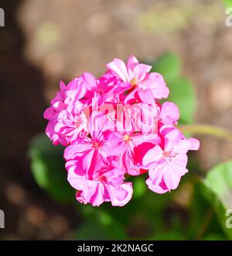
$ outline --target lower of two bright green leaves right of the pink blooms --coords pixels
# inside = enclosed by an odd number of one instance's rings
[[[179,123],[193,123],[196,112],[196,94],[190,81],[186,78],[176,78],[169,82],[169,98],[179,107]]]

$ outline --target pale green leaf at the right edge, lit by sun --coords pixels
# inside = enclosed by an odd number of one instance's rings
[[[221,227],[229,239],[232,239],[232,228],[226,221],[227,210],[232,209],[232,161],[217,165],[204,178],[201,190],[217,213]]]

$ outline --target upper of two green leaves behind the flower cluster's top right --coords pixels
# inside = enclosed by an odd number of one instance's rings
[[[152,64],[152,72],[162,74],[167,82],[179,77],[181,70],[179,57],[171,53],[163,54]]]

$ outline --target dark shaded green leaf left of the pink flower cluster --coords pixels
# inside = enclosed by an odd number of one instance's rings
[[[29,147],[32,175],[40,188],[58,202],[74,201],[73,189],[67,182],[63,147],[54,146],[45,135],[33,138]]]

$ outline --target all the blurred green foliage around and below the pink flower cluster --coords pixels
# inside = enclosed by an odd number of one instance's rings
[[[170,88],[169,100],[176,102],[182,123],[192,123],[196,94],[191,82],[181,75],[182,64],[174,54],[164,54],[152,63],[153,71],[163,74]],[[68,185],[63,147],[54,147],[45,135],[32,140],[29,149],[32,174],[39,187],[57,202],[75,203],[81,216],[78,240],[223,240],[232,239],[225,226],[226,210],[232,208],[232,162],[197,176],[196,158],[189,157],[189,174],[179,188],[163,195],[145,185],[147,174],[131,177],[134,195],[124,207],[104,203],[100,207],[75,201]]]

